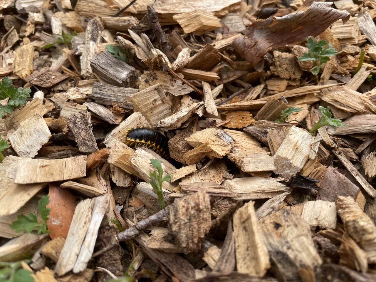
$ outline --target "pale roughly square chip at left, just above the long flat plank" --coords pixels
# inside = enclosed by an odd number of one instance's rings
[[[39,149],[47,143],[51,132],[41,115],[34,115],[20,123],[14,132],[8,133],[9,142],[17,155],[24,158],[33,158]]]

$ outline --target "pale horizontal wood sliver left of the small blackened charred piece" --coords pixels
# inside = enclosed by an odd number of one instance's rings
[[[279,183],[277,178],[261,176],[227,179],[222,186],[232,192],[236,200],[268,199],[290,191],[290,188]]]

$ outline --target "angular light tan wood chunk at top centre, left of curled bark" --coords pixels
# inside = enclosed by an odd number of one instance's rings
[[[173,19],[180,24],[186,34],[194,32],[195,35],[202,35],[221,27],[220,20],[205,10],[177,14]]]

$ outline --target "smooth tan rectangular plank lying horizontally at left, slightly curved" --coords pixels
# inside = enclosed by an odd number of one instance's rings
[[[27,167],[27,170],[25,169]],[[38,173],[35,173],[38,171]],[[15,183],[29,184],[70,180],[86,176],[86,156],[65,159],[21,159]]]

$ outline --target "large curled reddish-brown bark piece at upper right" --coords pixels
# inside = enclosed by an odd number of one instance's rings
[[[347,21],[350,14],[331,8],[332,4],[313,2],[306,11],[256,21],[244,31],[245,37],[232,42],[232,47],[256,71],[261,71],[264,55],[271,48],[305,41],[308,36],[319,35],[337,20]]]

